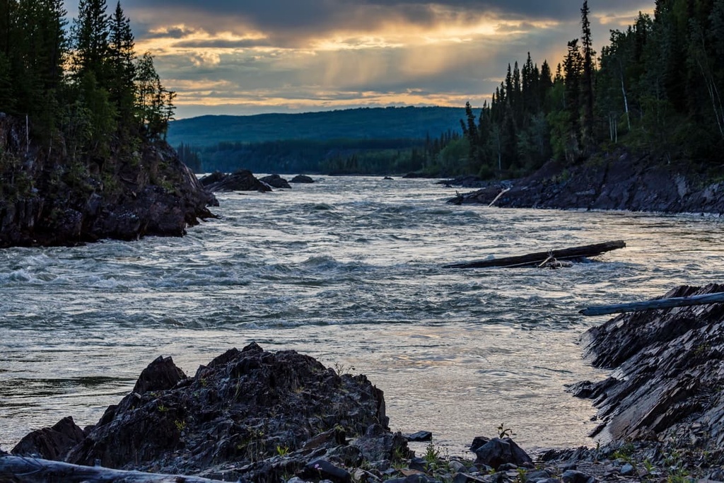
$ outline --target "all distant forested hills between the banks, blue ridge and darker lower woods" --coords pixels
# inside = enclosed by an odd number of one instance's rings
[[[169,142],[195,172],[437,174],[460,137],[461,108],[387,107],[304,114],[203,116],[169,124]]]

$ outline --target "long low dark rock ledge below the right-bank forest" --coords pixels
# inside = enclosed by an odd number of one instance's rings
[[[647,161],[627,153],[568,167],[552,161],[512,186],[490,183],[448,202],[490,204],[510,188],[495,206],[724,214],[724,182]]]

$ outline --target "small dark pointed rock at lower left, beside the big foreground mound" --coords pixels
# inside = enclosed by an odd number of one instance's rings
[[[70,448],[83,441],[83,429],[66,416],[53,427],[37,429],[20,440],[11,453],[18,456],[33,456],[47,460],[62,460]]]

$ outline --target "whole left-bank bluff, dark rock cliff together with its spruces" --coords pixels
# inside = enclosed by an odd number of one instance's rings
[[[66,14],[0,1],[0,246],[180,235],[210,199],[163,142],[174,93],[120,3]]]

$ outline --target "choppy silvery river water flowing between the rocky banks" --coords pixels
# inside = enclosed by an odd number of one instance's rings
[[[564,385],[605,373],[578,336],[588,305],[722,282],[717,218],[451,206],[429,180],[319,177],[222,193],[222,219],[185,238],[0,251],[0,445],[72,415],[94,424],[159,355],[187,374],[256,341],[384,390],[390,427],[450,453],[503,422],[526,448],[588,444],[589,401]],[[451,270],[626,240],[604,263]]]

